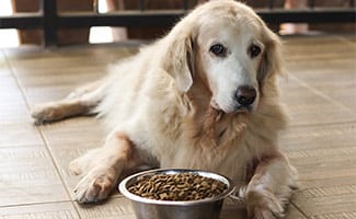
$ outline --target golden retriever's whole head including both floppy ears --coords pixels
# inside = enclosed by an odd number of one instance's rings
[[[249,7],[213,1],[195,9],[166,36],[165,69],[182,92],[196,77],[225,113],[257,107],[263,85],[280,71],[280,43]]]

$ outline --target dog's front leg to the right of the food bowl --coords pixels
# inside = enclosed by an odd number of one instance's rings
[[[297,187],[297,172],[285,155],[276,152],[260,159],[245,193],[249,219],[283,217]]]

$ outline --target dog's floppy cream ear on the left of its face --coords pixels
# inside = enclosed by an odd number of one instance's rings
[[[183,31],[168,36],[166,53],[162,68],[174,79],[176,88],[187,92],[193,84],[193,39],[188,32]]]

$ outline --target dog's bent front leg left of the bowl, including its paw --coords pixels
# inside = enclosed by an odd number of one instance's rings
[[[84,174],[74,189],[76,199],[85,204],[107,198],[123,171],[139,164],[140,160],[130,139],[123,132],[113,132],[102,148],[70,164],[73,172]]]

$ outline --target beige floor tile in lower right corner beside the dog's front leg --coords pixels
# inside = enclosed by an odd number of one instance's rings
[[[300,191],[292,198],[298,209],[310,218],[353,218],[355,124],[292,127],[283,141],[299,172]]]

